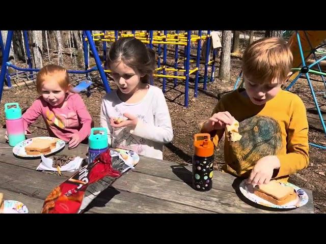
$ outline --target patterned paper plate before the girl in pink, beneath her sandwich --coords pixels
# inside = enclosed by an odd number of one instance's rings
[[[64,142],[61,139],[54,138],[54,137],[40,136],[40,137],[34,137],[34,138],[40,138],[40,139],[45,139],[45,140],[57,139],[56,147],[51,149],[51,151],[49,153],[43,154],[44,156],[56,153],[56,151],[59,151],[61,148],[65,147],[65,145],[66,145],[66,142]],[[12,149],[14,155],[17,155],[19,157],[26,157],[26,158],[39,158],[39,157],[41,157],[41,155],[28,155],[28,154],[26,154],[25,146],[31,144],[32,139],[33,138],[24,140],[22,142],[19,142],[17,145],[15,145],[14,148]]]

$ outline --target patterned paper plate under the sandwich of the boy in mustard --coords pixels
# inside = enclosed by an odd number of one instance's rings
[[[240,191],[241,193],[243,194],[243,196],[245,196],[246,198],[248,198],[249,200],[257,203],[257,204],[260,204],[260,205],[263,205],[263,206],[267,206],[267,207],[273,207],[273,208],[297,208],[297,207],[301,207],[303,205],[305,205],[307,202],[308,202],[308,195],[307,193],[302,190],[301,188],[289,183],[289,182],[286,182],[286,183],[283,183],[281,182],[281,184],[283,186],[288,186],[288,187],[292,187],[296,193],[296,199],[291,201],[291,202],[288,202],[284,205],[276,205],[274,203],[271,203],[271,202],[268,202],[258,196],[256,196],[254,193],[251,193],[251,191],[247,192],[247,188],[246,188],[246,185],[247,185],[247,179],[244,179],[242,180],[242,182],[240,183]]]

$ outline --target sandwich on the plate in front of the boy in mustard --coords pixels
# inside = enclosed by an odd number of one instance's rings
[[[292,187],[283,186],[276,180],[271,180],[268,184],[256,185],[254,194],[276,205],[284,205],[296,199]]]

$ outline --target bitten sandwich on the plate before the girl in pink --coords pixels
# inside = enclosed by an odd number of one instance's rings
[[[25,151],[27,155],[41,155],[51,152],[51,149],[55,148],[57,144],[57,139],[52,140],[32,138],[32,143],[25,146]]]

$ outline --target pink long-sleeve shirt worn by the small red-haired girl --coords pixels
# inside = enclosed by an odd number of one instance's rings
[[[78,133],[82,140],[87,138],[91,132],[92,117],[82,97],[68,93],[65,101],[65,106],[55,108],[40,96],[22,115],[24,129],[29,132],[28,127],[42,115],[49,136],[58,137],[66,142],[75,133]]]

